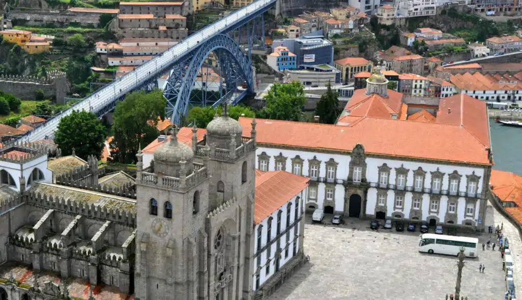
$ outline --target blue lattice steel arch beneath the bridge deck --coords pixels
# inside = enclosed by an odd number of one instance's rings
[[[203,43],[192,56],[188,67],[185,66],[188,62],[180,62],[174,66],[174,70],[169,75],[163,96],[167,99],[167,114],[172,113],[171,122],[177,123],[177,118],[185,116],[188,112],[188,102],[192,87],[196,82],[196,76],[203,66],[206,57],[211,53],[216,52],[220,60],[225,61],[224,65],[220,66],[228,70],[227,72],[237,72],[244,77],[247,85],[248,93],[254,93],[254,84],[252,79],[252,64],[243,50],[239,47],[231,37],[225,34],[216,34]],[[235,65],[235,68],[234,68]],[[230,70],[233,69],[233,70]],[[231,85],[229,80],[233,76],[227,76],[227,88]]]

